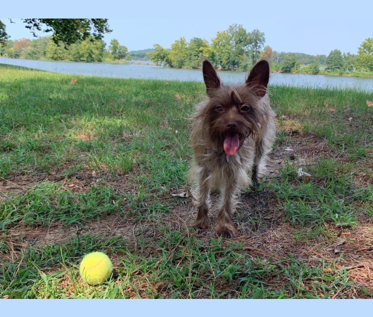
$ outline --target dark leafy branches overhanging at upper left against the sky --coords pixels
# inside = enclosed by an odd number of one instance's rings
[[[22,19],[25,27],[34,37],[37,31],[53,32],[52,40],[67,47],[78,40],[101,40],[105,33],[110,33],[108,19]],[[12,21],[11,21],[12,22]],[[4,23],[0,21],[0,42],[6,40]]]

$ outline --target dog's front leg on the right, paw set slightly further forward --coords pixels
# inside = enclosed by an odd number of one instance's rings
[[[222,188],[222,201],[218,212],[217,233],[223,238],[231,238],[236,235],[236,229],[232,223],[231,216],[235,210],[238,194],[237,182],[232,180]]]

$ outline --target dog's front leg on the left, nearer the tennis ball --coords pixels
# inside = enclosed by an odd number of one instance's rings
[[[198,181],[198,197],[196,200],[198,214],[195,225],[197,228],[207,229],[210,225],[210,216],[208,214],[210,208],[210,185],[206,168],[203,169]]]

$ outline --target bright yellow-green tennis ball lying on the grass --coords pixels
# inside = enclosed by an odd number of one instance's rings
[[[87,284],[101,284],[112,275],[112,261],[105,253],[89,253],[80,262],[79,273]]]

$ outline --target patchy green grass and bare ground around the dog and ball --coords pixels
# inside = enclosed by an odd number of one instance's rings
[[[70,79],[0,65],[1,298],[373,297],[372,93],[270,87],[268,174],[226,240],[178,196],[203,84]],[[114,265],[99,286],[91,251]]]

